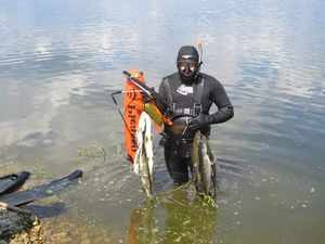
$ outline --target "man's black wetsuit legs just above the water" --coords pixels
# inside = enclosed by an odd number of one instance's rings
[[[174,155],[168,145],[165,146],[165,162],[168,172],[177,184],[188,182],[190,158]]]

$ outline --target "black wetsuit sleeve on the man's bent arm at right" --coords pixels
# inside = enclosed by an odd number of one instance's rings
[[[211,89],[210,99],[217,105],[218,111],[209,115],[210,124],[220,124],[231,119],[234,116],[234,108],[230,102],[222,85],[214,80]]]

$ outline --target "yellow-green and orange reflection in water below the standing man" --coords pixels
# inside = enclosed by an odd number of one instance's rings
[[[192,196],[193,197],[193,196]],[[186,189],[146,201],[131,213],[130,243],[213,243],[218,208]]]

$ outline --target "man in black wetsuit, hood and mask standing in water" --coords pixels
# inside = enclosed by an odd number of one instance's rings
[[[210,134],[210,125],[234,116],[233,106],[213,77],[199,72],[199,55],[195,47],[181,47],[177,57],[178,72],[165,77],[158,93],[170,104],[159,104],[173,125],[165,125],[167,141],[165,160],[169,175],[177,184],[188,181],[191,147],[197,130]],[[209,115],[214,103],[218,111]]]

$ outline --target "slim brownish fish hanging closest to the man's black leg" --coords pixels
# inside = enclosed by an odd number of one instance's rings
[[[191,150],[191,164],[192,164],[192,176],[195,184],[195,189],[197,192],[202,192],[202,182],[200,182],[200,172],[199,172],[199,154],[198,154],[198,145],[200,142],[202,133],[199,130],[196,131],[192,150]]]

